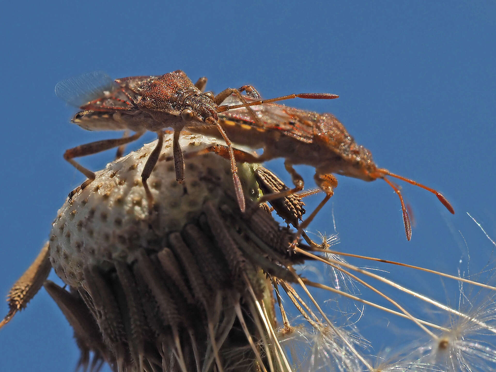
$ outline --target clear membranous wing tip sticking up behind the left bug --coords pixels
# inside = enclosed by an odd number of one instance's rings
[[[69,105],[80,108],[92,101],[111,97],[121,86],[105,72],[93,71],[60,81],[55,94]]]

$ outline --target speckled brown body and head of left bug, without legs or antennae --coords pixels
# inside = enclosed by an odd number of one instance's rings
[[[72,123],[87,130],[140,132],[217,122],[213,95],[201,92],[181,70],[162,76],[124,77],[112,85],[109,94],[82,105]]]

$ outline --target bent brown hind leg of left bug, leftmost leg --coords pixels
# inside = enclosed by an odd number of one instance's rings
[[[115,139],[104,139],[102,141],[95,141],[95,142],[90,142],[86,143],[84,145],[79,145],[73,148],[70,148],[68,150],[65,150],[63,154],[63,158],[67,160],[74,168],[76,168],[79,172],[84,174],[88,180],[86,180],[80,187],[76,188],[75,190],[71,191],[69,193],[69,201],[74,196],[74,194],[79,190],[83,189],[86,186],[88,186],[94,179],[95,179],[95,173],[91,172],[89,169],[84,168],[82,165],[77,163],[73,158],[78,158],[80,156],[86,156],[86,155],[91,155],[91,154],[96,154],[101,151],[105,151],[117,146],[124,145],[126,143],[132,142],[141,135],[143,135],[144,131],[141,132],[136,132],[133,135],[129,137],[123,137],[123,138],[115,138]]]

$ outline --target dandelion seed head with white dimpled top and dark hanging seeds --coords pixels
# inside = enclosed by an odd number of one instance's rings
[[[295,232],[254,202],[256,165],[238,165],[250,208],[241,214],[229,161],[187,156],[216,143],[181,137],[187,178],[178,184],[174,163],[164,161],[172,158],[166,136],[148,179],[152,210],[140,174],[156,143],[107,165],[59,210],[50,263],[69,290],[45,288],[74,327],[83,369],[90,351],[92,363],[119,371],[287,366],[271,332],[267,276],[292,279],[288,267],[302,262],[289,249]]]

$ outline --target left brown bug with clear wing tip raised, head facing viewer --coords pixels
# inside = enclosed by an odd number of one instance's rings
[[[159,141],[152,151],[141,174],[141,180],[146,190],[149,210],[153,197],[147,184],[160,154],[163,144],[163,129],[172,127],[174,130],[174,165],[176,179],[184,181],[184,160],[179,136],[184,127],[212,126],[226,141],[227,151],[231,160],[231,171],[237,199],[242,211],[245,210],[245,199],[241,182],[237,174],[236,161],[229,137],[218,122],[218,113],[230,110],[229,106],[219,104],[229,95],[235,94],[243,102],[241,91],[256,92],[247,85],[239,90],[227,88],[216,96],[211,92],[203,92],[206,78],[200,78],[196,84],[181,70],[166,73],[161,76],[133,76],[113,80],[103,72],[92,72],[79,77],[62,80],[55,87],[57,96],[69,104],[75,105],[81,111],[76,113],[71,122],[87,130],[132,130],[135,134],[117,139],[106,139],[87,143],[68,149],[64,159],[83,173],[88,180],[80,188],[88,186],[95,174],[77,163],[74,158],[94,154],[110,148],[123,146],[138,139],[145,131],[157,133]],[[258,93],[256,93],[258,95]],[[333,94],[302,93],[278,97],[272,101],[289,98],[332,99]],[[259,102],[260,104],[263,101]],[[76,189],[77,190],[77,189]],[[75,191],[69,194],[69,199]]]

